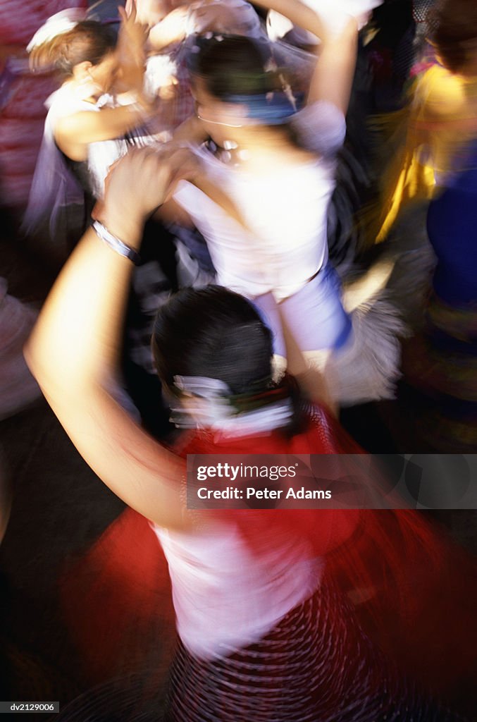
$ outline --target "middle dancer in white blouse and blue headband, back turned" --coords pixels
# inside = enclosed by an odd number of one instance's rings
[[[266,69],[266,45],[235,36],[199,38],[190,55],[196,118],[174,139],[196,142],[208,177],[232,199],[243,223],[190,183],[178,189],[174,202],[206,238],[218,282],[261,308],[278,355],[284,355],[283,323],[310,362],[323,368],[330,361],[333,401],[388,398],[398,377],[402,325],[390,304],[370,300],[372,292],[369,303],[361,303],[359,293],[342,299],[328,263],[328,205],[346,133],[357,22],[345,15],[336,32],[299,2],[260,4],[322,38],[305,108],[297,112],[283,73]],[[206,139],[218,154],[202,147]],[[377,287],[381,282],[378,273]]]

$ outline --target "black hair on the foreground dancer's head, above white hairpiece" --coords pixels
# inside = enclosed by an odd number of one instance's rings
[[[159,308],[152,351],[161,380],[206,376],[248,391],[271,375],[271,332],[253,305],[220,286],[184,289]]]

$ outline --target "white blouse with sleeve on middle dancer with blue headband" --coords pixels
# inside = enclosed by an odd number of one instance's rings
[[[277,300],[289,297],[328,260],[327,212],[344,116],[320,101],[293,123],[316,160],[256,175],[203,152],[211,178],[235,202],[250,232],[191,183],[180,183],[174,196],[206,238],[219,284],[252,298],[268,292]]]

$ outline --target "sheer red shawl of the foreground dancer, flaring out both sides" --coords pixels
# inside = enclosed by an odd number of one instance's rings
[[[324,412],[303,432],[216,443],[183,438],[180,453],[363,453]],[[207,512],[204,512],[207,513]],[[413,511],[253,510],[244,539],[260,544],[263,525],[306,535],[328,573],[356,605],[369,635],[405,674],[459,702],[476,670],[476,566]],[[240,517],[240,515],[242,515]],[[91,683],[147,667],[165,674],[175,637],[167,565],[149,523],[126,510],[70,570],[62,599]]]

